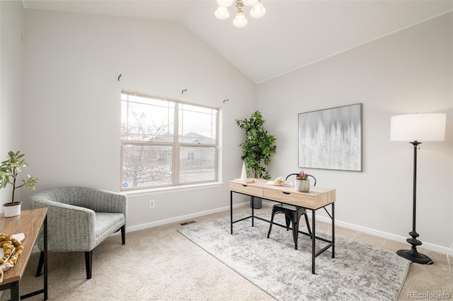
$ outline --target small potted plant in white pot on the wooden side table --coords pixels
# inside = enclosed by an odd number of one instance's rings
[[[25,163],[23,158],[25,155],[21,154],[20,151],[14,153],[9,151],[4,160],[0,165],[0,189],[6,188],[8,184],[13,185],[13,192],[11,196],[11,203],[4,203],[4,216],[9,218],[11,216],[18,216],[21,214],[21,201],[14,200],[14,194],[16,189],[21,187],[29,187],[35,190],[35,184],[39,182],[39,179],[35,177],[30,177],[27,175],[27,179],[18,180],[18,174],[21,172],[22,167],[27,167],[28,164]],[[22,183],[18,182],[22,181]]]

